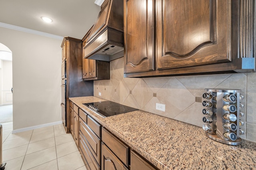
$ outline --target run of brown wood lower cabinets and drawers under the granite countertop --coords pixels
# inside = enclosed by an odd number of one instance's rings
[[[70,101],[70,131],[87,170],[158,170]]]

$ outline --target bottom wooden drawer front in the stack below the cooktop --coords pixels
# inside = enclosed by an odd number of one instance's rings
[[[100,170],[100,166],[97,164],[96,160],[92,156],[92,153],[90,152],[88,146],[85,143],[85,139],[81,135],[79,135],[79,146],[82,157],[86,162],[86,168],[88,170]]]

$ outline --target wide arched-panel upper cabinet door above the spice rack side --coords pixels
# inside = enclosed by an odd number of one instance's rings
[[[158,70],[230,61],[230,0],[157,0]]]

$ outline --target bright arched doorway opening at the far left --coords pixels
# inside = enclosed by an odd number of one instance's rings
[[[12,120],[12,51],[0,43],[0,123]]]

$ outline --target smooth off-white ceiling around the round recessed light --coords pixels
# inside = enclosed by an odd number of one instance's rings
[[[0,0],[0,22],[82,39],[100,12],[95,0]],[[44,22],[41,17],[53,20]]]

